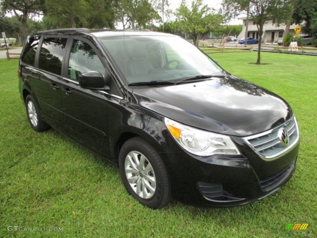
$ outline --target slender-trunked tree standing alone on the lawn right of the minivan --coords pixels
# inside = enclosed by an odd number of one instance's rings
[[[249,18],[256,23],[259,31],[259,47],[256,64],[261,63],[261,45],[264,23],[273,20],[276,24],[287,22],[293,8],[289,0],[223,0],[223,10],[227,16],[236,17],[249,12]]]

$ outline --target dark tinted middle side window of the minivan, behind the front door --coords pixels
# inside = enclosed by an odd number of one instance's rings
[[[66,38],[44,38],[39,58],[39,68],[61,75]]]

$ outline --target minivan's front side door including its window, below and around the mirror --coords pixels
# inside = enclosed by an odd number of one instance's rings
[[[108,155],[107,104],[108,94],[83,89],[78,77],[87,71],[105,76],[105,65],[96,47],[82,38],[74,38],[69,47],[64,78],[61,83],[61,103],[65,133],[96,153]]]

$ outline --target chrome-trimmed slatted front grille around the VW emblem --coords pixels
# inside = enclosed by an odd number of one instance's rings
[[[284,128],[287,131],[289,137],[287,146],[283,146],[281,144],[278,136],[278,132],[281,128]],[[299,132],[296,119],[293,117],[288,122],[285,122],[283,125],[276,127],[275,129],[254,136],[245,137],[244,140],[262,158],[268,160],[273,159],[291,149],[298,142]]]

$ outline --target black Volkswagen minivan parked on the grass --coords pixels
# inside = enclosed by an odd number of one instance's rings
[[[171,198],[243,205],[294,173],[299,131],[288,103],[179,36],[42,31],[28,37],[18,75],[31,127],[52,127],[116,164],[150,208]]]

